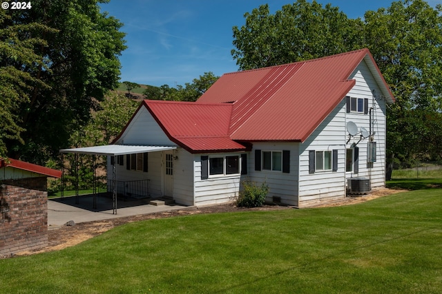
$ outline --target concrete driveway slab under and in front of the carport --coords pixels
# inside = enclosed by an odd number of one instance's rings
[[[189,208],[180,204],[153,205],[149,204],[150,201],[151,199],[126,201],[118,199],[117,214],[113,214],[112,198],[105,196],[97,196],[97,209],[93,209],[92,195],[79,196],[79,204],[75,204],[75,196],[49,199],[48,227],[56,228],[70,220],[75,223],[90,222]]]

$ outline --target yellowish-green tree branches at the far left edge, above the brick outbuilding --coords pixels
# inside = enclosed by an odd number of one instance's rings
[[[6,143],[23,143],[21,117],[17,109],[29,101],[32,87],[48,88],[44,82],[29,72],[17,69],[21,67],[36,69],[46,68],[41,56],[34,52],[35,46],[44,46],[46,41],[35,36],[36,32],[54,32],[46,25],[27,23],[12,25],[12,17],[6,10],[0,10],[0,158],[6,158]],[[26,33],[30,36],[26,36]]]

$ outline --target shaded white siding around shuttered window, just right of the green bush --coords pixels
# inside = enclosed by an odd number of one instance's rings
[[[261,151],[290,151],[290,173],[282,171],[255,170],[255,150]],[[280,197],[284,204],[298,206],[298,158],[299,143],[253,143],[253,150],[249,154],[249,179],[260,185],[265,182],[269,185],[267,201],[272,202],[273,196]]]

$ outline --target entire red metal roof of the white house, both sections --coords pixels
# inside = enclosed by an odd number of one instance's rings
[[[303,142],[354,87],[349,77],[363,61],[387,102],[394,102],[372,54],[363,49],[224,74],[195,103],[144,100],[140,107],[192,153],[244,151],[253,141]]]

